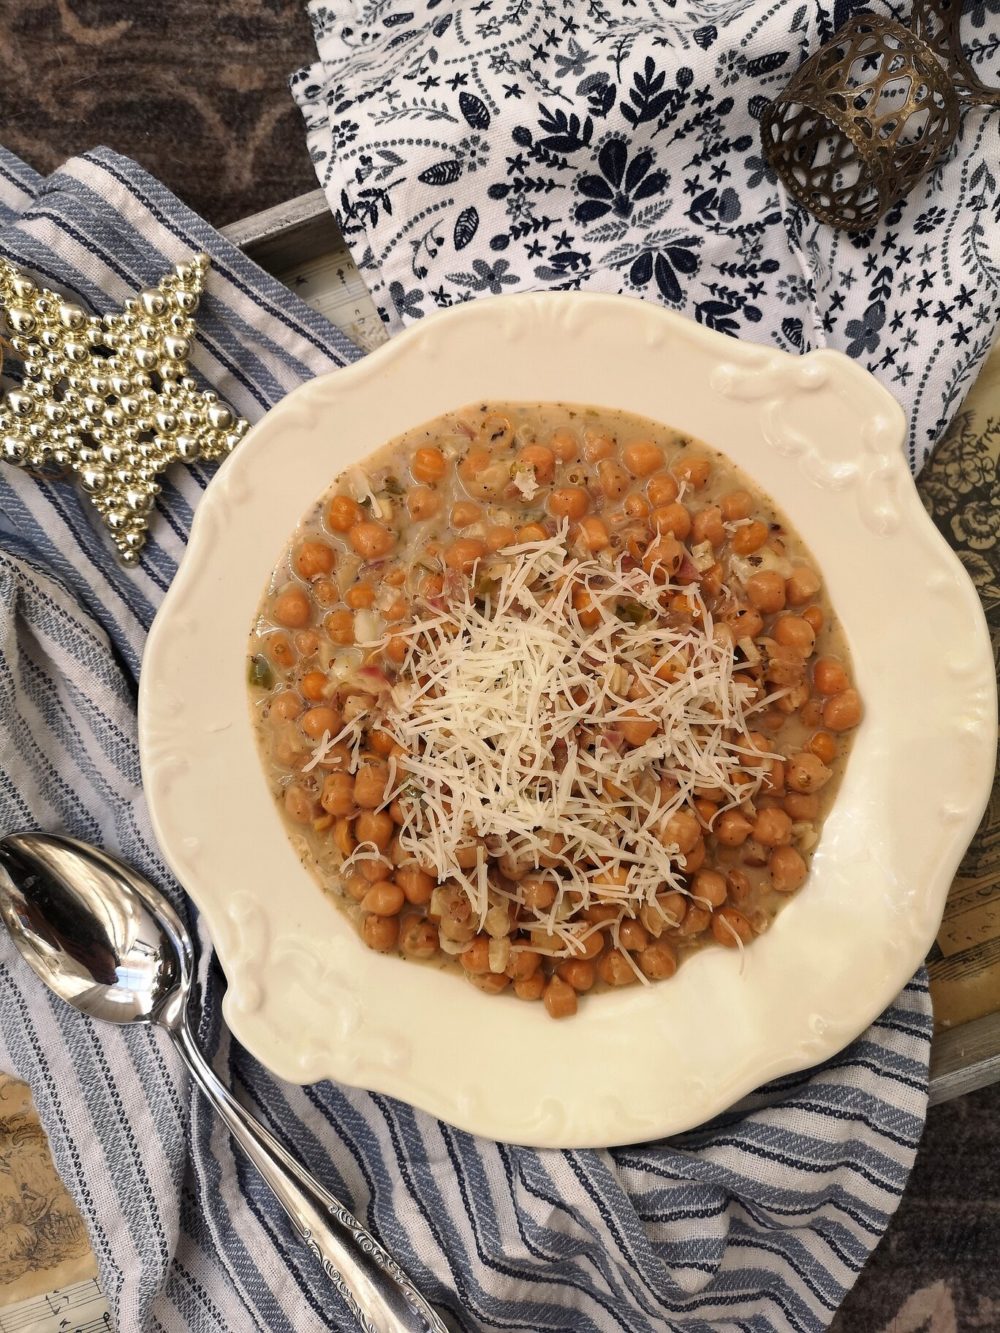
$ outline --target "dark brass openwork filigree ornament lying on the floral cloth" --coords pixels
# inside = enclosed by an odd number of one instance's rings
[[[963,105],[1000,105],[960,17],[961,0],[916,0],[908,28],[855,15],[764,109],[764,156],[813,217],[872,227],[952,147]]]

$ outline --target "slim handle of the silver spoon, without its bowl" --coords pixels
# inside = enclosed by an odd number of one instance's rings
[[[395,1258],[220,1082],[187,1018],[171,1034],[201,1092],[320,1260],[363,1333],[448,1333]]]

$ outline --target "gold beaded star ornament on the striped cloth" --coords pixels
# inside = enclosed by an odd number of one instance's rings
[[[0,459],[76,475],[127,564],[145,543],[160,475],[225,457],[248,429],[187,373],[207,271],[207,255],[177,264],[101,319],[0,260],[7,347],[24,367],[0,400]]]

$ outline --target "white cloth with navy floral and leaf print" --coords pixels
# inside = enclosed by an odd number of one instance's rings
[[[871,232],[823,227],[759,117],[861,0],[335,0],[292,79],[320,184],[389,328],[485,292],[661,301],[791,352],[856,357],[923,463],[1000,319],[1000,115]],[[1000,81],[1000,7],[967,4]]]

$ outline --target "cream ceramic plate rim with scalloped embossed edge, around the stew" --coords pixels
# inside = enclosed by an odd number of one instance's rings
[[[248,631],[304,512],[349,463],[479,399],[625,408],[727,452],[817,557],[867,706],[809,881],[745,958],[705,949],[569,1022],[368,950],[292,850],[249,724]],[[208,921],[239,1040],[293,1082],[565,1148],[687,1129],[857,1036],[933,940],[996,742],[985,620],[903,439],[899,405],[839,353],[573,293],[463,305],[284,399],[201,500],[140,689],[153,825]]]

